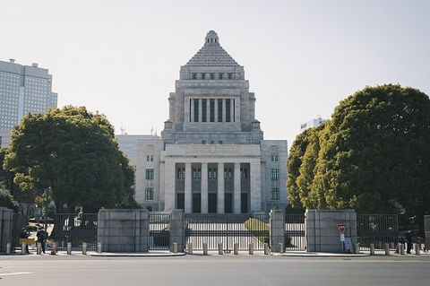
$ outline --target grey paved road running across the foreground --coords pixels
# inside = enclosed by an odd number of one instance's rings
[[[0,257],[0,285],[430,285],[430,258]]]

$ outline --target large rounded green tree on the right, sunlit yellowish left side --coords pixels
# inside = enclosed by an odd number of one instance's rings
[[[300,204],[430,212],[430,100],[425,93],[392,84],[366,87],[341,101],[331,121],[314,131],[307,133],[302,163],[294,169],[298,190],[292,195],[299,194]]]

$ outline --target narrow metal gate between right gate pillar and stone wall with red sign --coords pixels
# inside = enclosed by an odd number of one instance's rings
[[[285,214],[286,250],[305,250],[305,214]]]

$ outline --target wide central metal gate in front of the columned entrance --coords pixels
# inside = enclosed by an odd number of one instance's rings
[[[237,243],[239,250],[247,250],[250,243],[255,250],[264,249],[269,243],[268,213],[187,213],[185,214],[185,243],[194,249],[208,244],[209,250],[218,249],[222,243],[224,251],[230,252]]]

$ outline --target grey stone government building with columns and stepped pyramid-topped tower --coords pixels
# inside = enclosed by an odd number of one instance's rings
[[[211,30],[181,66],[157,135],[117,135],[136,166],[135,199],[152,211],[241,213],[287,206],[287,141],[263,140],[242,65]]]

